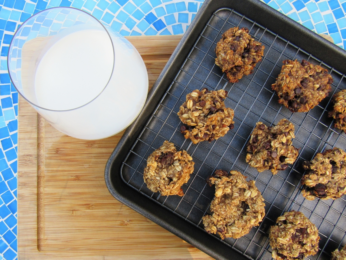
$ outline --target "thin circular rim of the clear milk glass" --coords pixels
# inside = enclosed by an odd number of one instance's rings
[[[10,72],[10,69],[9,69],[9,68],[10,68],[10,67],[9,67],[9,53],[10,53],[10,51],[12,50],[13,42],[14,42],[14,40],[15,40],[15,37],[17,36],[17,33],[19,32],[19,29],[20,29],[22,26],[25,26],[25,25],[27,24],[27,21],[29,21],[31,18],[38,16],[38,15],[41,14],[42,12],[49,11],[49,10],[52,10],[52,9],[73,9],[73,10],[77,10],[77,11],[80,11],[80,12],[83,12],[83,13],[87,14],[88,16],[90,16],[90,17],[92,17],[94,20],[96,20],[96,21],[102,26],[102,28],[104,29],[104,31],[106,31],[106,33],[107,33],[107,35],[108,35],[108,37],[109,37],[109,40],[110,40],[110,42],[111,42],[111,44],[112,44],[112,51],[113,51],[113,66],[112,66],[112,71],[111,71],[111,73],[110,73],[110,76],[109,76],[109,79],[108,79],[108,81],[107,81],[107,84],[103,87],[103,89],[100,91],[100,93],[99,93],[97,96],[95,96],[93,99],[91,99],[89,102],[85,103],[84,105],[75,107],[75,108],[73,108],[73,109],[66,109],[66,110],[47,109],[47,108],[45,108],[45,107],[39,106],[39,105],[37,105],[37,104],[35,104],[35,103],[29,101],[29,99],[27,99],[27,98],[18,90],[16,84],[13,83],[13,80],[12,80],[12,77],[11,77],[11,72]],[[73,111],[73,110],[76,110],[76,109],[80,109],[81,107],[86,106],[86,105],[90,104],[91,102],[93,102],[96,98],[98,98],[98,97],[103,93],[104,89],[106,89],[106,87],[108,86],[109,81],[110,81],[110,79],[111,79],[111,77],[112,77],[112,75],[113,75],[114,65],[115,65],[114,44],[113,44],[112,38],[111,38],[111,36],[110,36],[110,34],[109,34],[107,28],[101,23],[101,21],[99,21],[99,20],[98,20],[97,18],[95,18],[93,15],[89,14],[88,12],[86,12],[86,11],[84,11],[84,10],[81,10],[81,9],[78,9],[78,8],[75,8],[75,7],[51,7],[51,8],[47,8],[47,9],[45,9],[45,10],[39,11],[39,12],[37,12],[36,14],[30,16],[28,19],[26,19],[26,20],[18,27],[18,29],[16,30],[15,34],[13,34],[13,37],[12,37],[12,39],[11,39],[11,42],[10,42],[10,45],[9,45],[9,48],[8,48],[8,52],[7,52],[7,71],[8,71],[10,80],[11,80],[10,83],[13,84],[13,86],[15,87],[15,89],[17,90],[17,92],[18,92],[27,102],[29,102],[29,104],[31,104],[31,105],[33,105],[33,106],[39,108],[39,109],[43,109],[43,110],[47,110],[47,111],[55,111],[55,112]]]

